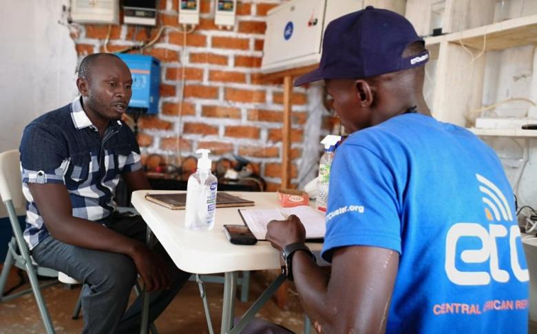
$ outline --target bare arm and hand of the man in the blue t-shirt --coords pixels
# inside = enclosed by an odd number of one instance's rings
[[[297,216],[273,220],[266,240],[280,251],[304,242],[306,230]],[[383,333],[390,309],[399,253],[369,246],[337,247],[332,252],[330,275],[310,254],[293,255],[293,278],[304,310],[319,333]]]

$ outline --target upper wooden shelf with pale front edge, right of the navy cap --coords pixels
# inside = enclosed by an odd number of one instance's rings
[[[430,48],[435,48],[443,41],[462,43],[465,47],[476,50],[483,50],[483,42],[485,42],[485,51],[537,45],[537,15],[492,23],[443,36],[428,37],[425,39],[425,44]]]

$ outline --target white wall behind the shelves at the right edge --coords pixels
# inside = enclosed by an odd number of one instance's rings
[[[530,98],[537,103],[536,48],[532,45],[485,55],[483,105],[493,105],[507,98]],[[524,101],[498,105],[481,116],[537,117],[537,108]],[[537,207],[537,140],[483,137],[501,158],[509,182],[518,198],[518,206]]]

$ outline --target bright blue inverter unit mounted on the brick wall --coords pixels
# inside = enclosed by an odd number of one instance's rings
[[[132,75],[132,97],[127,112],[158,113],[160,62],[142,54],[116,54]]]

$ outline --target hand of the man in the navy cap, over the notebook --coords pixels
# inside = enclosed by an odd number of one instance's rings
[[[306,240],[306,229],[300,219],[291,215],[287,220],[271,220],[266,225],[266,240],[279,251],[293,242],[304,242]]]

